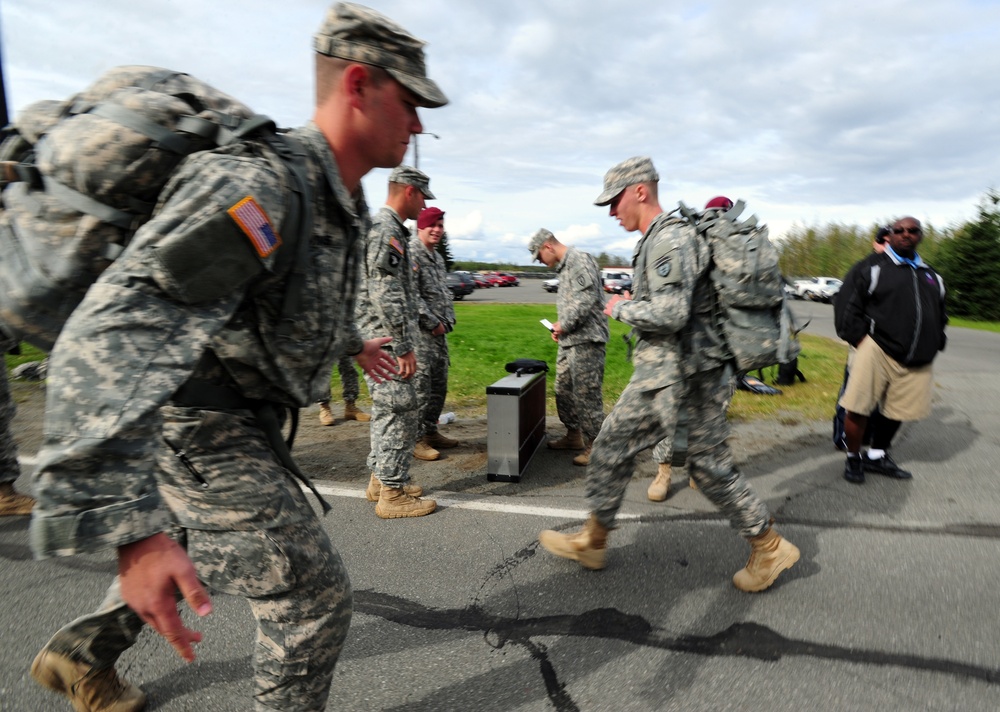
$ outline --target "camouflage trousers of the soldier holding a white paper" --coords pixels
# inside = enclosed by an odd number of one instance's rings
[[[593,440],[604,422],[605,344],[560,346],[556,355],[556,412],[569,430]]]

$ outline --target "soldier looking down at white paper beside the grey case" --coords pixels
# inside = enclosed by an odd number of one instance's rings
[[[550,440],[549,447],[583,450],[573,464],[587,465],[604,422],[604,357],[610,332],[601,273],[593,257],[564,245],[545,229],[532,236],[528,251],[533,260],[559,273],[559,321],[552,325],[552,338],[559,344],[556,410],[566,435]]]

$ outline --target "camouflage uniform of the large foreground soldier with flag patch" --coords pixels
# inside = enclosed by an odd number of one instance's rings
[[[289,274],[272,271],[287,168],[261,143],[195,154],[52,352],[31,540],[47,557],[173,533],[207,586],[250,602],[256,708],[316,710],[351,585],[264,421],[312,402],[338,356],[361,351],[353,309],[370,219],[319,129],[290,136],[314,186],[296,319],[281,326]],[[107,668],[141,625],[116,582],[46,647]]]

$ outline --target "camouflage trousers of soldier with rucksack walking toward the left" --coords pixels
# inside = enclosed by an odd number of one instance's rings
[[[643,391],[629,383],[604,421],[587,468],[587,499],[601,523],[614,525],[636,455],[674,432],[678,407],[686,403],[688,475],[741,535],[749,538],[764,531],[770,520],[767,506],[736,469],[726,443],[726,410],[732,396],[729,367],[705,371],[655,391]]]

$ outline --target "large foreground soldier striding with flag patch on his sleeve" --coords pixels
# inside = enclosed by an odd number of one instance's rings
[[[31,541],[39,557],[117,547],[120,574],[100,610],[57,632],[32,665],[77,710],[144,706],[114,669],[141,622],[194,658],[201,635],[176,597],[208,614],[199,579],[247,598],[257,618],[253,708],[325,709],[351,585],[278,426],[285,408],[313,402],[341,353],[376,379],[395,370],[385,340],[363,341],[354,323],[370,225],[361,179],[400,163],[422,130],[417,106],[447,101],[422,45],[348,3],[315,36],[315,118],[290,133],[313,222],[299,238],[308,258],[295,264],[304,285],[289,332],[279,334],[280,305],[294,280],[271,270],[292,181],[259,141],[188,158],[66,323]]]

